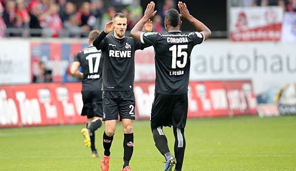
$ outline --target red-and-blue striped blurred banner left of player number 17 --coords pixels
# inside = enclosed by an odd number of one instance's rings
[[[52,71],[53,82],[77,81],[78,79],[70,74],[70,65],[74,61],[74,56],[86,46],[88,45],[84,43],[32,41],[32,74],[37,74],[38,63],[44,62],[46,68]]]

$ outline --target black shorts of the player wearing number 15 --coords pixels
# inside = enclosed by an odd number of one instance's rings
[[[188,96],[162,95],[155,92],[151,109],[150,124],[155,129],[161,126],[185,128],[187,120]]]

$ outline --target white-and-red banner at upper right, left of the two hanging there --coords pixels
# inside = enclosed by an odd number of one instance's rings
[[[280,6],[231,7],[230,39],[233,41],[278,41],[283,8]]]

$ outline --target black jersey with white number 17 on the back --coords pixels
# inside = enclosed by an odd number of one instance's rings
[[[101,50],[88,46],[78,52],[74,61],[80,63],[83,71],[82,90],[101,90],[103,55]]]

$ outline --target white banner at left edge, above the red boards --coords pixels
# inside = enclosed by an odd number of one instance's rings
[[[30,42],[2,39],[0,47],[0,85],[30,83]]]

